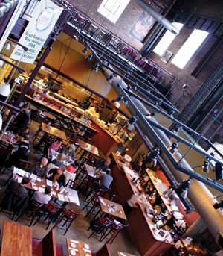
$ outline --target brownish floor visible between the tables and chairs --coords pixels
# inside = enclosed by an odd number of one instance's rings
[[[38,129],[38,126],[39,125],[36,122],[31,122],[30,128],[31,128],[32,134]],[[36,160],[39,160],[39,157],[40,157],[39,154],[33,154],[33,149],[32,149],[28,160],[34,163]],[[10,173],[11,172],[0,174],[0,185],[4,184],[5,179],[9,177]],[[5,190],[5,187],[1,187],[1,190],[0,190],[1,199],[4,196],[4,190]],[[85,205],[85,202],[83,199],[84,199],[83,196],[80,195],[80,207],[75,207],[72,205],[71,208],[80,212]],[[0,213],[1,231],[3,228],[4,220],[9,220],[9,219],[10,219],[10,215],[8,213],[3,213],[3,212]],[[85,218],[85,211],[83,211],[81,215],[78,216],[76,220],[74,220],[74,222],[72,223],[71,227],[69,228],[65,236],[63,235],[64,230],[62,230],[61,228],[56,228],[55,230],[56,243],[62,244],[64,255],[68,255],[68,251],[66,247],[66,237],[73,238],[76,240],[82,240],[89,243],[91,246],[92,252],[97,252],[103,246],[106,240],[103,240],[103,243],[100,243],[96,235],[93,235],[90,239],[88,239],[88,236],[91,234],[91,231],[87,231],[87,229],[89,227],[89,223],[91,219],[93,219],[93,216],[90,214],[87,218]],[[30,218],[26,214],[24,214],[24,216],[22,216],[22,218],[19,219],[18,223],[22,225],[28,225],[30,223]],[[46,223],[43,220],[41,222],[38,222],[35,226],[32,227],[33,237],[36,237],[39,239],[42,239],[43,237],[45,237],[45,234],[47,234],[47,232],[50,230],[48,228],[48,231],[46,231],[45,228],[46,228]],[[123,228],[123,230],[120,231],[120,234],[118,234],[114,242],[111,245],[109,245],[109,248],[111,250],[112,256],[117,256],[117,251],[129,252],[138,256],[140,255],[138,246],[135,243],[135,239],[130,227]]]

